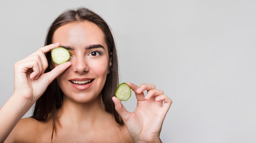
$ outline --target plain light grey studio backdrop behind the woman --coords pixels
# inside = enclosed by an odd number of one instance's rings
[[[164,143],[256,142],[255,0],[1,0],[0,106],[13,93],[13,64],[79,6],[110,25],[120,82],[154,84],[173,100]],[[135,95],[123,104],[134,111]]]

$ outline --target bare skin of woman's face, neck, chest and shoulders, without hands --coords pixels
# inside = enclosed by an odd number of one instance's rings
[[[64,93],[63,104],[58,111],[60,124],[57,125],[57,132],[52,137],[50,116],[45,122],[26,118],[18,122],[6,142],[133,142],[126,126],[117,124],[113,115],[106,112],[101,98],[101,89],[111,64],[108,62],[104,35],[99,27],[91,22],[66,24],[56,30],[53,41],[73,48],[69,60],[72,65],[57,77]],[[95,44],[103,45],[104,48],[85,49]],[[94,50],[101,54],[91,54]],[[88,84],[90,86],[70,82],[80,78],[93,79],[93,82]]]

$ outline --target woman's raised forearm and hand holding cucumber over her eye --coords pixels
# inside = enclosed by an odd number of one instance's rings
[[[66,62],[44,73],[48,67],[45,53],[59,46],[60,43],[47,45],[14,64],[14,92],[0,108],[0,142],[8,137],[48,85],[71,65]]]

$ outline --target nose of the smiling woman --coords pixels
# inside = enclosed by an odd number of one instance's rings
[[[83,74],[88,72],[89,67],[86,62],[86,59],[83,56],[76,57],[75,60],[72,62],[73,70],[76,73]]]

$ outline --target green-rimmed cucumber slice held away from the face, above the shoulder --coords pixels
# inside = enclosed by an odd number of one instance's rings
[[[126,83],[121,83],[115,91],[115,96],[119,100],[126,101],[131,97],[131,93],[132,91],[129,85],[127,85]]]

